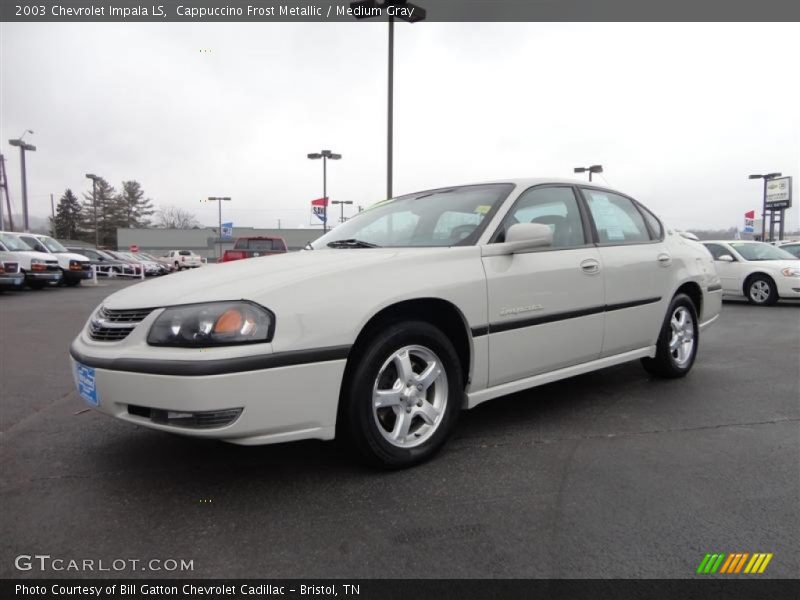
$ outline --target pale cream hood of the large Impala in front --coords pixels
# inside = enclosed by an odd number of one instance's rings
[[[471,247],[477,252],[475,247]],[[104,305],[112,309],[145,308],[260,298],[270,290],[285,288],[295,282],[326,278],[326,285],[345,286],[347,273],[370,265],[400,260],[430,260],[448,252],[468,251],[459,248],[359,248],[309,250],[261,256],[208,268],[173,273],[146,281],[112,294]],[[331,279],[332,278],[332,279]]]

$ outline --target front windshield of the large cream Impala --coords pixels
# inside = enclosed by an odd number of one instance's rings
[[[471,245],[513,189],[511,183],[469,185],[385,200],[329,231],[311,247]]]

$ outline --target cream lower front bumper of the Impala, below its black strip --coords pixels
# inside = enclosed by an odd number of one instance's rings
[[[72,373],[93,362],[80,338],[70,348]],[[203,438],[244,444],[270,444],[334,437],[345,359],[294,364],[219,375],[157,375],[95,368],[96,410],[123,421]],[[168,363],[167,363],[168,364]],[[216,413],[242,409],[221,427],[164,422],[170,413]]]

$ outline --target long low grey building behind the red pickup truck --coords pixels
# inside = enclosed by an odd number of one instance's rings
[[[289,250],[300,250],[308,242],[322,235],[321,229],[258,229],[255,227],[234,227],[230,239],[220,240],[216,227],[198,229],[117,229],[117,248],[129,250],[138,246],[142,252],[156,256],[170,250],[191,250],[213,260],[225,250],[233,248],[240,237],[280,237],[286,241]]]

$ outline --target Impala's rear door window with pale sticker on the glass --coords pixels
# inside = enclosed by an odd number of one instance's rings
[[[583,193],[601,244],[650,241],[644,218],[629,198],[605,190],[584,189]]]

